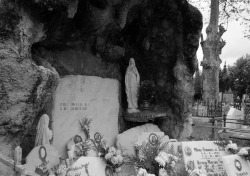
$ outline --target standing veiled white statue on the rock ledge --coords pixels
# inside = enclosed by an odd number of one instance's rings
[[[129,66],[126,70],[125,85],[128,101],[128,112],[140,112],[138,110],[138,90],[140,87],[140,75],[137,71],[133,58],[129,60]]]

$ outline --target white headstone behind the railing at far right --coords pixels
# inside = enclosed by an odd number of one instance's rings
[[[243,120],[244,112],[231,107],[227,113],[227,119]],[[237,120],[227,120],[227,122],[237,122]],[[241,128],[241,124],[226,123],[226,127],[238,129]]]

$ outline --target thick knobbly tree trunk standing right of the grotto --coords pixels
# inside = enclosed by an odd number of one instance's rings
[[[219,0],[211,0],[210,22],[206,29],[207,38],[203,41],[203,37],[201,37],[204,100],[218,100],[219,98],[219,70],[221,63],[219,54],[226,42],[221,40],[225,29],[221,25],[218,26],[218,20]]]

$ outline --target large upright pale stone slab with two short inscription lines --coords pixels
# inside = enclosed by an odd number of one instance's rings
[[[119,82],[115,79],[80,75],[60,79],[54,93],[52,145],[62,157],[67,157],[66,143],[73,136],[85,136],[79,124],[84,117],[92,119],[91,139],[99,132],[108,146],[114,145],[118,134],[118,98]]]

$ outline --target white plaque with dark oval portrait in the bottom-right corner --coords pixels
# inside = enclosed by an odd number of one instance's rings
[[[250,176],[249,161],[239,155],[224,156],[222,160],[228,176]]]

